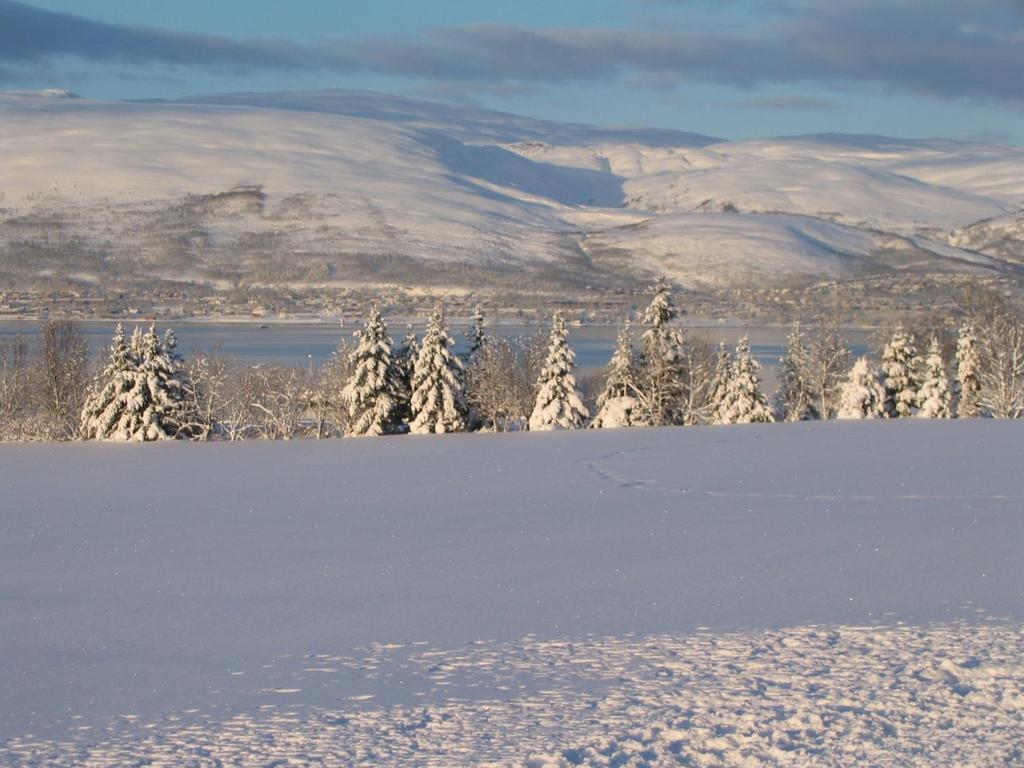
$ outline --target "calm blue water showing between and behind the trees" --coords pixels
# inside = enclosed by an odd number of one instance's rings
[[[89,348],[94,356],[100,356],[110,345],[114,333],[113,323],[83,323],[82,328],[89,341]],[[159,328],[167,328],[161,325]],[[261,328],[256,324],[241,323],[179,323],[170,326],[178,338],[178,351],[183,355],[193,352],[219,350],[220,353],[232,357],[253,361],[273,361],[287,366],[305,367],[319,366],[331,356],[338,342],[351,338],[357,330],[354,325],[344,328],[335,324],[268,324]],[[126,324],[126,332],[131,333],[132,326]],[[34,342],[39,330],[38,323],[9,322],[0,323],[0,339],[25,334],[30,343]],[[392,331],[395,326],[392,326]],[[456,339],[456,350],[461,352],[466,348],[464,328],[456,327],[453,335]],[[506,337],[531,336],[539,330],[537,326],[494,326],[489,333]],[[422,335],[422,327],[418,328]],[[611,356],[615,346],[618,329],[613,326],[580,326],[569,329],[569,343],[577,353],[577,364],[584,371],[602,368]],[[637,329],[637,338],[641,329]],[[754,356],[765,367],[774,367],[785,348],[785,337],[788,329],[784,327],[695,327],[688,328],[687,333],[705,335],[713,342],[724,341],[734,345],[744,334],[750,337]],[[867,351],[868,335],[866,331],[849,331],[846,337],[855,356]],[[394,334],[395,343],[400,344],[404,336]]]

